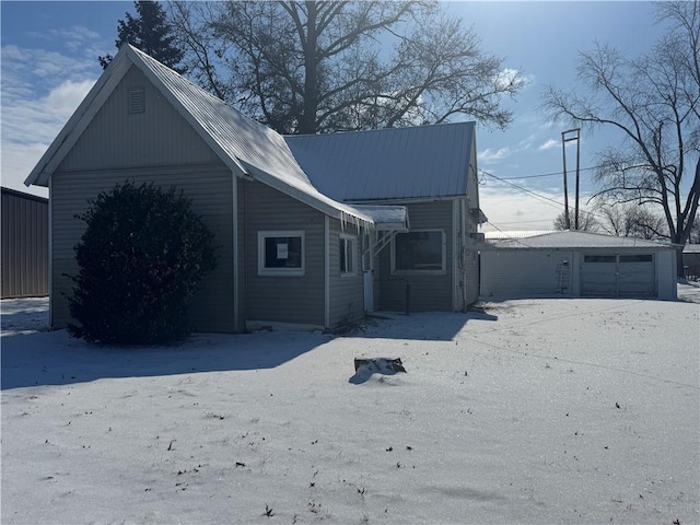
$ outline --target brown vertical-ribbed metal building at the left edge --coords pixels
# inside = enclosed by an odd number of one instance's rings
[[[2,191],[2,299],[48,295],[48,199]]]

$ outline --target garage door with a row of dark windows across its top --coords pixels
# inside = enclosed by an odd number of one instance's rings
[[[653,254],[584,255],[581,265],[581,295],[656,296]]]

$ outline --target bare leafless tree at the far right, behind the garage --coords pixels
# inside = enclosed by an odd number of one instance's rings
[[[586,95],[549,88],[544,105],[556,119],[617,129],[621,144],[599,152],[598,195],[656,206],[684,245],[700,198],[700,2],[660,2],[657,13],[669,30],[650,54],[597,45],[579,59]]]

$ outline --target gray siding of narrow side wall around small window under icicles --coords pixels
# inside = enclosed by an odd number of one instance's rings
[[[347,234],[354,240],[354,275],[340,275],[340,235]],[[345,231],[340,221],[330,219],[329,229],[329,328],[341,328],[361,322],[364,318],[364,283],[360,260],[362,238],[358,228],[346,225]]]

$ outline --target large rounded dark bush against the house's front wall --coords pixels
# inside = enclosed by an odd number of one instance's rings
[[[213,233],[173,186],[117,184],[90,201],[68,298],[73,337],[167,343],[190,332],[187,307],[215,266]]]

